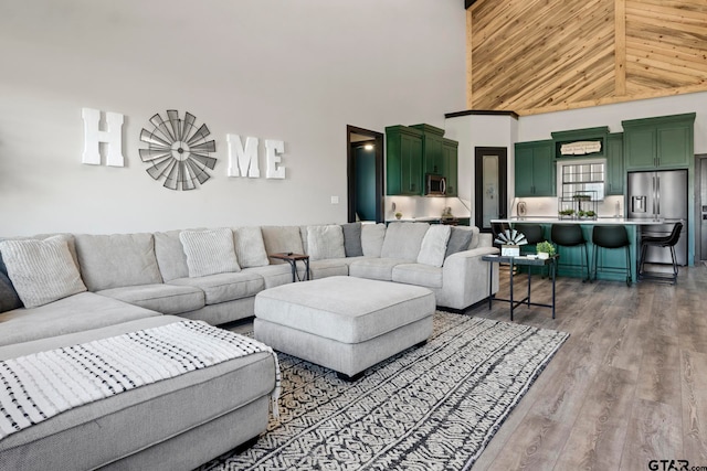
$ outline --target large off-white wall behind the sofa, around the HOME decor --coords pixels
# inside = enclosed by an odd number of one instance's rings
[[[346,126],[442,127],[464,49],[458,0],[3,1],[0,235],[345,222]],[[125,168],[81,163],[83,107],[125,115]],[[167,109],[215,139],[198,190],[139,159]],[[287,179],[226,178],[226,133],[283,140]]]

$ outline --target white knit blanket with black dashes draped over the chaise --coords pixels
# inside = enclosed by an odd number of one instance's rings
[[[73,407],[257,352],[272,353],[275,362],[272,410],[276,417],[277,355],[261,342],[202,321],[181,321],[2,361],[0,439]]]

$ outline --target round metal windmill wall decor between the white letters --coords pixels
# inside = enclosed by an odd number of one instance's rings
[[[213,140],[207,125],[196,126],[197,117],[187,111],[179,118],[176,109],[167,110],[167,120],[159,114],[150,118],[152,129],[143,129],[140,141],[148,144],[140,149],[140,159],[150,164],[147,173],[155,180],[165,179],[170,190],[194,190],[211,178],[207,169],[213,170],[217,159]]]

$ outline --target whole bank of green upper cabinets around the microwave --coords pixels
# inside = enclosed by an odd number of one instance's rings
[[[457,195],[457,146],[444,138],[444,129],[430,125],[386,128],[388,195],[425,194],[425,174],[446,178],[446,194]]]

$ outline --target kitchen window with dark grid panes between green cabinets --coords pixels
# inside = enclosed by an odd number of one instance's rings
[[[576,194],[589,194],[592,201],[604,200],[606,161],[604,159],[558,161],[558,196],[572,200]]]

